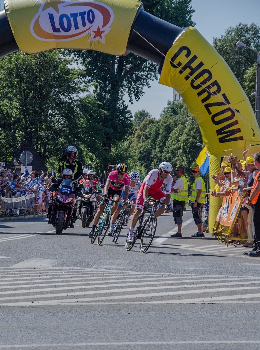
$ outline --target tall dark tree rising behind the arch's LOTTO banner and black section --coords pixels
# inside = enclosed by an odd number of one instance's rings
[[[147,12],[180,27],[193,25],[192,0],[146,0]],[[88,82],[94,85],[95,98],[108,111],[106,127],[117,130],[117,141],[127,135],[131,113],[127,110],[123,95],[127,93],[130,102],[143,96],[143,88],[150,87],[150,80],[158,78],[157,65],[136,55],[112,56],[95,51],[74,50],[74,56],[84,67]],[[111,148],[115,143],[113,133],[106,133],[105,144]]]

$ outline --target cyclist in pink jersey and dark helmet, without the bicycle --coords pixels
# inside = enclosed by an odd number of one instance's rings
[[[99,208],[97,209],[96,215],[93,219],[91,232],[88,234],[88,237],[92,238],[94,236],[96,225],[99,222],[99,218],[105,208],[107,198],[112,197],[114,201],[121,202],[122,200],[122,190],[125,187],[123,203],[126,205],[129,188],[130,188],[130,177],[127,175],[127,166],[124,163],[119,163],[116,166],[116,170],[110,172],[107,178],[107,182],[104,188],[104,193],[102,196],[103,201],[100,203]],[[113,235],[114,225],[117,219],[116,210],[119,203],[114,203],[111,209],[112,218],[110,224],[110,230],[108,236]]]

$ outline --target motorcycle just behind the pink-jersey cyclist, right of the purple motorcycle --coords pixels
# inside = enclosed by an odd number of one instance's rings
[[[98,202],[95,194],[100,194],[102,191],[93,191],[92,187],[88,186],[87,182],[79,185],[83,197],[77,198],[79,203],[77,217],[82,221],[82,228],[89,227],[90,223],[96,214]]]

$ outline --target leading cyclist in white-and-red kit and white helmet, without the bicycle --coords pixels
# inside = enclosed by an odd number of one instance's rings
[[[141,214],[144,205],[147,204],[147,198],[149,195],[153,197],[156,201],[162,201],[165,205],[168,205],[171,200],[171,190],[172,190],[172,165],[168,162],[162,162],[159,165],[159,169],[153,169],[145,177],[142,186],[138,192],[136,200],[136,208],[133,213],[133,217],[130,224],[130,229],[128,232],[127,243],[133,242],[133,230],[135,229],[138,216]],[[161,190],[161,187],[166,185],[166,195]],[[164,213],[165,205],[156,210],[155,216],[158,217]]]

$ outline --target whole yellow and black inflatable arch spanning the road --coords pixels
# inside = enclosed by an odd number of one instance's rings
[[[143,10],[138,0],[6,0],[0,12],[0,57],[57,48],[112,55],[137,54],[159,65],[160,84],[174,87],[200,127],[210,174],[222,157],[259,151],[260,131],[250,102],[218,52],[198,33]],[[210,188],[214,188],[210,177]],[[209,230],[219,198],[211,197]]]

